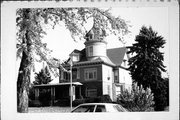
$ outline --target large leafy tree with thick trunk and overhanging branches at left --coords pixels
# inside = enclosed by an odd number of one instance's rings
[[[23,8],[17,10],[17,55],[21,57],[17,80],[17,106],[18,112],[28,112],[28,91],[31,69],[36,61],[35,55],[40,60],[47,62],[49,67],[60,64],[52,59],[50,50],[42,43],[46,34],[46,25],[52,28],[63,21],[74,40],[83,39],[88,32],[84,23],[88,18],[93,18],[106,33],[113,33],[122,40],[127,34],[128,24],[120,17],[114,17],[109,10],[98,8]]]

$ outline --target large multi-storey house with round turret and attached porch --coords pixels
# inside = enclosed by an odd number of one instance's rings
[[[85,48],[72,51],[71,57],[62,64],[66,70],[72,68],[73,100],[108,94],[116,101],[123,90],[131,90],[127,48],[107,49],[105,34],[104,30],[94,25],[85,36]],[[50,88],[53,100],[68,97],[70,93],[70,72],[59,69],[59,73],[58,84],[36,86]],[[35,93],[37,98],[38,89]]]

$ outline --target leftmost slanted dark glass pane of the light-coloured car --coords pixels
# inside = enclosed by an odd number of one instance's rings
[[[95,105],[83,105],[83,106],[77,107],[72,112],[93,112],[94,107],[95,107]]]

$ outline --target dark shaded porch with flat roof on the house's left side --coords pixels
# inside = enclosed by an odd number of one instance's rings
[[[35,100],[38,101],[40,91],[46,90],[49,91],[47,99],[50,99],[50,105],[53,106],[55,102],[59,100],[70,100],[70,86],[68,83],[58,83],[58,84],[43,84],[43,85],[34,85],[35,90]],[[72,100],[81,98],[81,86],[80,82],[72,82]]]

